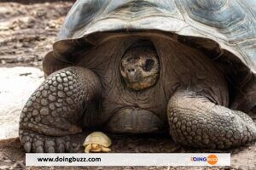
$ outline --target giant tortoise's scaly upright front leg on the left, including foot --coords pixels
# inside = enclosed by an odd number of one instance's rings
[[[70,151],[68,135],[82,131],[84,107],[100,92],[98,77],[81,67],[67,67],[47,77],[20,116],[20,142],[26,152]]]

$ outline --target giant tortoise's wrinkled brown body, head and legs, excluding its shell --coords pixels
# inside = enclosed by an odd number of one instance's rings
[[[154,45],[131,48],[142,39]],[[146,63],[148,56],[154,65]],[[52,73],[28,99],[20,116],[26,152],[73,151],[69,135],[88,127],[111,133],[168,129],[177,143],[196,148],[224,149],[256,139],[239,99],[229,108],[223,74],[195,48],[166,37],[126,36],[110,38],[79,59],[76,66]],[[254,99],[255,82],[250,83],[244,90],[248,98],[240,103]]]

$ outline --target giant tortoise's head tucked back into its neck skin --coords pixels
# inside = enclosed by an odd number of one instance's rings
[[[121,60],[120,72],[128,88],[142,90],[158,81],[160,65],[152,42],[136,42]]]

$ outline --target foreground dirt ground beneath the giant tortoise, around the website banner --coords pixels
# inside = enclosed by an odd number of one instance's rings
[[[73,137],[76,142],[83,144],[88,132],[81,133]],[[189,150],[175,144],[166,134],[144,134],[144,135],[114,135],[108,134],[113,144],[111,150],[113,153],[231,153],[230,167],[26,167],[25,152],[20,145],[20,140],[6,139],[0,141],[0,169],[114,169],[114,170],[133,170],[133,169],[239,169],[254,170],[255,162],[255,144],[247,144],[237,149],[230,150]],[[80,147],[79,152],[83,152]]]

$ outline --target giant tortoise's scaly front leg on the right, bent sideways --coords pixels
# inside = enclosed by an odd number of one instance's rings
[[[249,116],[193,91],[178,90],[169,100],[167,112],[172,138],[185,146],[224,149],[256,139]]]

